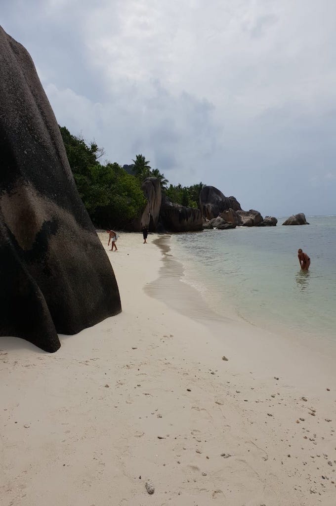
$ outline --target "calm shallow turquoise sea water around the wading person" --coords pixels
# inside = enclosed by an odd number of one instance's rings
[[[310,225],[237,227],[172,236],[183,280],[219,315],[288,335],[336,341],[336,216]],[[311,259],[302,272],[302,248]]]

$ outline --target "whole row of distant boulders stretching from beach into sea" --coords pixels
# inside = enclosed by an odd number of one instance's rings
[[[214,186],[203,186],[199,194],[199,207],[186,207],[171,202],[161,192],[157,178],[144,180],[142,189],[147,206],[134,222],[134,230],[147,227],[152,232],[192,232],[203,229],[226,230],[236,227],[275,227],[274,216],[262,217],[259,211],[244,211],[238,200],[226,197]],[[282,225],[308,225],[303,213],[290,216]]]

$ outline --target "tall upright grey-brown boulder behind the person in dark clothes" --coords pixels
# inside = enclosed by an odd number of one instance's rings
[[[162,200],[161,183],[157,178],[146,178],[141,188],[147,199],[147,205],[141,217],[134,221],[133,230],[140,232],[143,227],[147,227],[150,232],[156,232]]]

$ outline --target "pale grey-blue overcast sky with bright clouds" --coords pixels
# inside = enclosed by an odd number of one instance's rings
[[[61,125],[263,215],[336,214],[335,0],[2,0]]]

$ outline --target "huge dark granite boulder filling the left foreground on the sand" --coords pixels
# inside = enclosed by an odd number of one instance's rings
[[[0,27],[0,335],[55,352],[121,311],[118,286],[71,174],[27,51]]]

